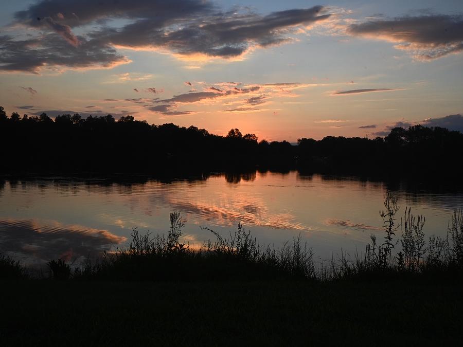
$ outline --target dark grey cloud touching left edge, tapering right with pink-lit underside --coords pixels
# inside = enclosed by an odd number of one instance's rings
[[[41,68],[109,68],[127,63],[116,50],[95,40],[79,38],[78,47],[69,45],[59,35],[51,33],[27,40],[0,36],[0,70],[38,74]]]

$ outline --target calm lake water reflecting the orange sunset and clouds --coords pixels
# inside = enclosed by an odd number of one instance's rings
[[[169,213],[186,218],[190,245],[221,234],[239,222],[262,245],[292,240],[299,233],[318,259],[341,249],[363,251],[369,234],[381,227],[379,211],[391,189],[405,206],[424,214],[424,231],[446,233],[463,194],[409,191],[403,185],[297,172],[217,174],[201,179],[111,182],[47,178],[0,180],[0,252],[29,265],[50,259],[80,261],[123,246],[132,227],[141,232],[168,229]]]

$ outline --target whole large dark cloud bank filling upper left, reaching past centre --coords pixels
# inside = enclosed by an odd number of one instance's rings
[[[224,11],[208,0],[41,0],[14,16],[16,28],[32,28],[38,35],[29,40],[21,34],[17,39],[3,36],[0,49],[7,58],[0,59],[0,69],[37,73],[50,67],[127,63],[117,48],[169,52],[203,62],[240,58],[257,48],[291,42],[298,29],[308,30],[331,14],[323,6],[268,15],[244,8]],[[74,50],[66,51],[62,43]]]

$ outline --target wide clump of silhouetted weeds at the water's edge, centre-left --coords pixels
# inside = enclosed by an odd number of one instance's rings
[[[265,249],[241,224],[234,233],[222,236],[211,232],[200,249],[182,242],[185,221],[171,213],[168,233],[154,237],[132,230],[127,248],[105,253],[96,262],[87,262],[74,272],[76,279],[229,281],[315,279],[312,251],[300,235],[280,249]]]

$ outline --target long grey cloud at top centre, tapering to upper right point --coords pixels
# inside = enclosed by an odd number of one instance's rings
[[[207,12],[179,18],[164,17],[157,21],[143,16],[121,29],[104,28],[94,32],[92,37],[127,48],[151,47],[184,56],[205,54],[232,58],[240,56],[250,47],[288,42],[288,32],[295,26],[328,19],[330,15],[322,12],[323,7],[315,6],[274,12],[267,16]]]

